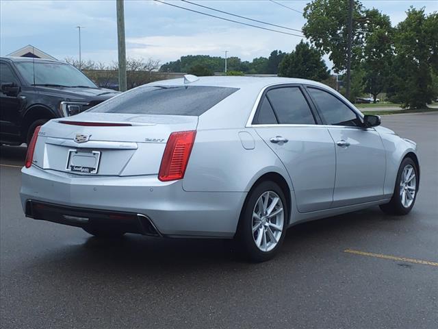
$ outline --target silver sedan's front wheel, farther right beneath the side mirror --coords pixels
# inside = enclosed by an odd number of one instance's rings
[[[380,206],[381,210],[388,215],[409,214],[415,204],[415,199],[417,199],[418,183],[417,165],[411,158],[404,158],[398,169],[396,186],[391,201],[382,204]]]

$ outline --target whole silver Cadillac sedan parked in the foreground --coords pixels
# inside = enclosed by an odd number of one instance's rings
[[[38,127],[21,202],[95,236],[235,238],[268,260],[296,223],[413,208],[416,144],[380,123],[309,80],[155,82]]]

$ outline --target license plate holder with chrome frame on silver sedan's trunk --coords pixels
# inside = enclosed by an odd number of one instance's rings
[[[66,171],[76,173],[97,173],[101,151],[69,149]]]

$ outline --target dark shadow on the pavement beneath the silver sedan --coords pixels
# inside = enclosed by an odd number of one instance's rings
[[[84,236],[83,242],[64,244],[42,258],[36,258],[36,261],[46,263],[38,266],[42,265],[47,271],[55,264],[58,269],[66,268],[77,275],[90,270],[110,271],[115,276],[131,273],[148,277],[159,273],[162,278],[205,270],[244,273],[269,267],[271,262],[287,265],[290,258],[294,259],[294,263],[305,263],[308,258],[338,254],[350,247],[350,241],[371,234],[373,230],[381,230],[380,226],[383,230],[391,230],[394,223],[387,221],[388,218],[376,207],[298,224],[288,230],[279,255],[259,265],[250,264],[240,257],[235,251],[235,243],[230,240],[162,239],[136,234],[127,234],[121,239]],[[290,264],[287,266],[290,267]]]

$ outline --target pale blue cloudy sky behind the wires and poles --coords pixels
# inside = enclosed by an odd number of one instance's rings
[[[190,3],[166,1],[236,19]],[[191,1],[295,29],[300,29],[305,23],[301,14],[269,0]],[[302,11],[309,2],[276,1],[298,11]],[[378,8],[388,14],[393,25],[404,19],[405,11],[410,5],[415,8],[424,7],[426,12],[438,11],[438,1],[362,2],[366,8]],[[66,57],[78,58],[77,25],[83,26],[83,60],[109,63],[117,59],[115,0],[0,0],[0,55],[5,56],[31,44],[61,60]],[[258,56],[268,56],[274,49],[291,51],[300,42],[300,38],[296,36],[221,21],[147,0],[125,0],[125,28],[127,56],[153,58],[162,63],[188,54],[224,56],[225,50],[229,51],[229,56],[252,60]],[[291,32],[285,29],[283,31]]]

